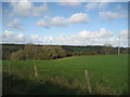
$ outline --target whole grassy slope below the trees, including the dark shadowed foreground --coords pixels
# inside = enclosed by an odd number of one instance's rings
[[[34,72],[35,65],[38,68],[37,78]],[[82,56],[37,61],[3,60],[3,72],[9,74],[3,74],[3,92],[4,94],[11,92],[14,94],[58,94],[58,92],[75,95],[89,94],[84,69],[88,70],[92,94],[128,93],[127,55]]]

